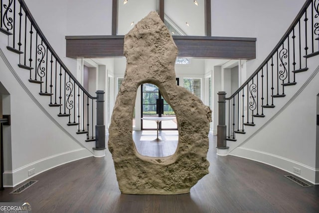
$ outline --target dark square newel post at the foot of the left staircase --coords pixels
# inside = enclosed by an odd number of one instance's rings
[[[104,93],[103,90],[96,91],[95,150],[105,149]]]

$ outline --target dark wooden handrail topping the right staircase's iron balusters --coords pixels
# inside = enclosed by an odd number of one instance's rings
[[[271,57],[278,51],[279,47],[283,44],[283,42],[287,39],[289,34],[292,32],[294,27],[298,24],[301,17],[304,15],[306,9],[311,4],[312,0],[307,0],[299,13],[297,14],[296,18],[292,22],[292,24],[289,26],[288,30],[285,32],[284,36],[280,39],[278,44],[275,46],[275,48],[270,52],[270,54],[266,57],[266,59],[262,62],[262,64],[256,69],[256,71],[239,87],[230,97],[226,98],[226,100],[230,100],[233,97],[235,97],[236,94],[238,94],[256,75],[257,73],[266,65],[266,63],[271,59]]]

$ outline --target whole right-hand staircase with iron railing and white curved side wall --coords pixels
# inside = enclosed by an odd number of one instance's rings
[[[307,162],[308,159],[300,157],[302,155],[299,153],[305,150],[304,155],[310,153],[312,157],[315,155],[316,159],[316,136],[314,141],[312,138],[309,143],[303,142],[308,140],[307,137],[303,137],[300,139],[299,147],[290,147],[289,141],[294,140],[290,135],[294,135],[294,131],[297,132],[295,135],[302,135],[308,127],[286,130],[285,126],[308,125],[291,118],[300,117],[297,115],[302,113],[301,106],[298,108],[294,105],[296,100],[300,101],[297,103],[303,102],[303,95],[306,95],[305,101],[309,105],[315,105],[312,102],[316,100],[319,92],[319,87],[316,86],[319,85],[317,55],[319,1],[307,0],[284,36],[244,84],[230,96],[226,96],[227,94],[222,91],[218,93],[217,154],[260,161],[292,173],[298,171],[293,171],[293,167],[304,168],[306,172],[295,175],[315,183],[313,174],[318,173],[316,163]],[[309,86],[313,88],[312,91],[307,89]],[[307,92],[315,95],[312,94],[313,97],[309,99]],[[313,109],[313,105],[309,110]],[[305,106],[307,104],[303,105]],[[286,109],[292,113],[287,115],[284,111]],[[296,114],[291,109],[295,109]],[[313,117],[316,116],[316,110],[314,111],[314,116],[311,114]],[[288,123],[279,122],[281,114],[288,118]],[[308,129],[311,129],[312,135],[316,135],[315,122]],[[284,130],[286,135],[282,133]],[[307,145],[303,146],[305,144]],[[307,146],[308,149],[305,148]],[[311,146],[315,147],[310,148]],[[314,152],[311,149],[315,149]],[[308,166],[310,164],[311,166]]]

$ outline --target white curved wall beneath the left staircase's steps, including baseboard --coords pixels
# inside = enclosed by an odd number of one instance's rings
[[[16,59],[16,55],[7,50],[6,54],[15,56]],[[30,178],[28,170],[33,168],[36,175],[60,164],[92,156],[91,152],[76,143],[39,108],[18,83],[13,69],[9,69],[5,60],[0,57],[1,84],[9,93],[2,95],[3,113],[11,115],[11,125],[5,126],[3,130],[6,152],[4,185],[12,187]],[[16,66],[16,63],[14,65]],[[22,76],[26,74],[22,69],[18,70],[18,73]],[[27,78],[21,82],[28,86],[33,85]]]

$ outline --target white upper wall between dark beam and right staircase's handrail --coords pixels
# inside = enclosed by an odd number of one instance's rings
[[[212,36],[256,37],[256,59],[249,77],[293,22],[305,0],[212,0]]]

